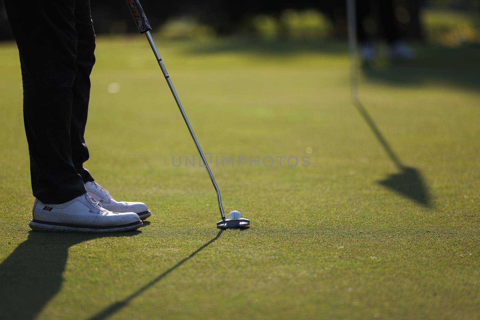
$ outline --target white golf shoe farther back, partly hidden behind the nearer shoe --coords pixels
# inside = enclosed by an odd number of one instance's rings
[[[105,188],[95,181],[85,183],[85,189],[107,210],[118,213],[134,212],[138,214],[142,220],[148,218],[152,214],[150,210],[148,210],[147,205],[143,202],[116,201],[112,198],[110,193],[105,190]]]

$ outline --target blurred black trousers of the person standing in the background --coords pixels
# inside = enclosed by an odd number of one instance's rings
[[[393,0],[357,0],[356,8],[357,36],[360,43],[371,40],[371,36],[365,30],[365,19],[368,17],[377,18],[379,34],[387,43],[392,44],[399,40]]]

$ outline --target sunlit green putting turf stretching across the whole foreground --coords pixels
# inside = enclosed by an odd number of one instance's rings
[[[146,40],[133,36],[97,39],[85,166],[152,216],[131,233],[29,232],[18,53],[2,44],[5,319],[478,319],[480,48],[418,47],[415,62],[364,70],[371,125],[412,173],[351,104],[344,44],[157,45],[204,152],[236,157],[212,171],[225,210],[251,227],[215,228],[215,192]]]

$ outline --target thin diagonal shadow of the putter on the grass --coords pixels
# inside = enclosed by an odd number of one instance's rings
[[[218,239],[220,237],[220,235],[222,234],[223,232],[223,229],[221,229],[220,231],[218,231],[218,233],[216,234],[216,236],[214,238],[212,238],[211,240],[209,240],[207,243],[205,243],[202,247],[196,249],[195,251],[193,251],[188,257],[180,260],[177,264],[175,264],[174,266],[170,267],[167,271],[159,274],[155,279],[153,279],[152,281],[150,281],[149,283],[145,284],[143,287],[141,287],[140,289],[138,289],[137,291],[135,291],[134,293],[132,293],[130,296],[127,296],[126,298],[124,298],[123,300],[121,301],[118,301],[118,302],[115,302],[114,304],[112,304],[111,306],[103,309],[102,311],[100,311],[99,313],[97,313],[96,315],[94,315],[93,317],[89,318],[90,320],[100,320],[100,319],[107,319],[108,317],[110,317],[111,315],[113,315],[114,313],[116,313],[117,311],[119,311],[121,308],[127,306],[129,304],[129,302],[135,298],[136,296],[139,296],[140,294],[142,294],[145,290],[147,290],[148,288],[150,288],[151,286],[153,286],[154,284],[156,284],[157,282],[159,282],[160,280],[162,280],[165,276],[168,275],[168,273],[171,273],[172,271],[174,271],[175,269],[177,269],[178,267],[180,267],[183,263],[185,263],[187,260],[191,259],[193,256],[195,256],[198,252],[202,251],[203,249],[205,249],[206,247],[208,247],[209,245],[211,245],[216,239]]]

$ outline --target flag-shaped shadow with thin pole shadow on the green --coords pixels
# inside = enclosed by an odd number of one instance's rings
[[[378,181],[378,183],[428,207],[430,205],[430,197],[420,171],[413,167],[404,166],[400,162],[360,101],[354,101],[353,105],[357,108],[365,122],[367,122],[392,162],[400,170],[399,173],[389,175],[384,180]]]

